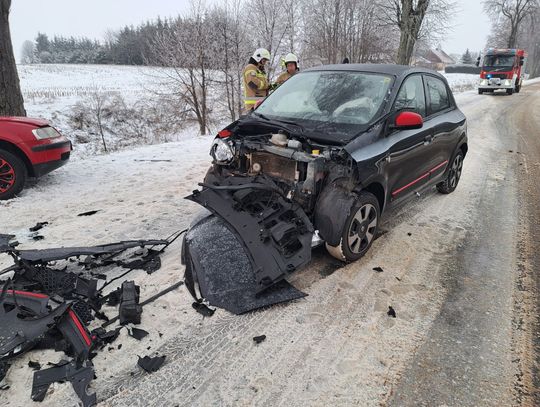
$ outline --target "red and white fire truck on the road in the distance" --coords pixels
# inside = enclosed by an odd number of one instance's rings
[[[522,49],[493,49],[484,55],[478,94],[505,89],[511,95],[519,93],[525,75],[525,59],[527,53]],[[478,57],[476,65],[480,65]]]

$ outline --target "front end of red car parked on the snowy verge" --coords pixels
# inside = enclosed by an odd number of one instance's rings
[[[0,117],[0,200],[20,193],[27,177],[66,164],[71,150],[71,141],[46,120]]]

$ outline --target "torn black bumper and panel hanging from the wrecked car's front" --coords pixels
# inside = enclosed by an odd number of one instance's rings
[[[187,288],[235,314],[304,297],[284,280],[311,259],[313,226],[303,209],[271,185],[228,182],[187,198],[214,214],[185,236]]]

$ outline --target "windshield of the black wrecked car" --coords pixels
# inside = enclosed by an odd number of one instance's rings
[[[331,126],[336,132],[356,134],[376,118],[391,83],[392,78],[383,74],[306,72],[280,86],[256,113],[301,122],[310,130]]]

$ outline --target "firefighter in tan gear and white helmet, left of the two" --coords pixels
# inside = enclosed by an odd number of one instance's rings
[[[244,68],[244,114],[255,108],[257,102],[268,96],[270,88],[265,65],[270,61],[270,52],[265,48],[255,50]]]

